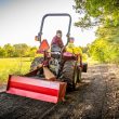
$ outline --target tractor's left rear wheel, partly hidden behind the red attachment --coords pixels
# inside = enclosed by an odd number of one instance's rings
[[[30,65],[30,71],[37,69],[38,65],[41,64],[42,62],[43,57],[36,57]]]

